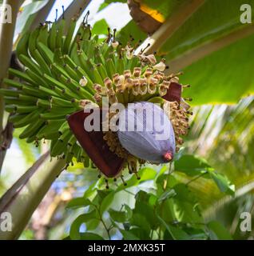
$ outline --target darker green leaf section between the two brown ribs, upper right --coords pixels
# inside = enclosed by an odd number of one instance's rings
[[[183,26],[170,36],[160,52],[173,59],[204,42],[211,42],[248,26],[240,23],[240,6],[244,3],[252,4],[252,0],[205,1]]]

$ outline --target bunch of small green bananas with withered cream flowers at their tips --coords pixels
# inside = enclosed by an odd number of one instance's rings
[[[165,75],[165,59],[157,62],[144,50],[135,55],[132,42],[121,46],[116,30],[113,34],[109,30],[101,42],[98,35],[91,34],[87,22],[81,23],[77,33],[77,18],[68,24],[66,34],[65,26],[62,18],[22,36],[17,55],[24,72],[10,68],[9,74],[15,79],[6,78],[7,89],[1,89],[0,94],[5,97],[14,127],[26,126],[19,138],[37,146],[43,139],[50,140],[52,157],[65,158],[66,164],[74,157],[90,166],[66,117],[87,104],[101,106],[103,96],[109,97],[110,104],[156,101],[178,78],[177,74]],[[185,104],[184,99],[178,103]]]

